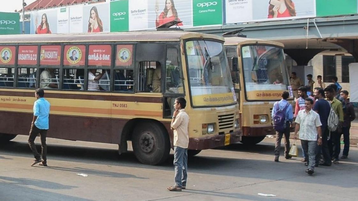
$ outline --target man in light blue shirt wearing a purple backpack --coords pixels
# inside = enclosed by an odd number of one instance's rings
[[[277,132],[276,131],[276,144],[275,144],[275,162],[279,162],[280,157],[280,149],[281,149],[281,139],[282,136],[285,135],[285,158],[290,159],[292,156],[289,155],[290,151],[290,126],[293,121],[293,112],[292,112],[292,106],[289,102],[287,102],[287,98],[290,97],[289,92],[282,92],[281,94],[282,99],[280,101],[277,101],[274,103],[274,108],[272,108],[272,119],[274,118],[274,114],[276,113],[276,105],[279,104],[279,109],[283,110],[286,106],[285,112],[285,123],[286,127],[284,132]]]

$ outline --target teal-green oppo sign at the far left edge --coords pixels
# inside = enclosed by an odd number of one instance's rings
[[[20,34],[18,13],[0,13],[0,35],[5,34]]]

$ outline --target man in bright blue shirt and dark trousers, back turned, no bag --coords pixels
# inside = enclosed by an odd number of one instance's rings
[[[45,92],[43,89],[36,89],[35,98],[37,99],[34,103],[34,117],[31,123],[30,136],[28,143],[34,154],[35,160],[31,166],[40,163],[39,165],[47,166],[47,144],[46,144],[46,134],[48,131],[48,116],[50,113],[50,103],[44,98]],[[41,148],[42,148],[42,161],[41,156],[37,152],[35,146],[35,139],[37,134],[40,134],[41,139]]]

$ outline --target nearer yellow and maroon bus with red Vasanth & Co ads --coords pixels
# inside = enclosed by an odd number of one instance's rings
[[[118,144],[120,154],[131,141],[144,164],[164,162],[173,148],[177,97],[188,102],[188,155],[239,142],[223,43],[184,31],[3,35],[0,140],[28,135],[34,91],[44,88],[48,137]]]

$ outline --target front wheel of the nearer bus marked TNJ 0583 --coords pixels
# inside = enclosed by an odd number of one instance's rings
[[[136,125],[132,135],[132,146],[137,159],[147,165],[163,163],[170,152],[168,134],[154,122]]]

